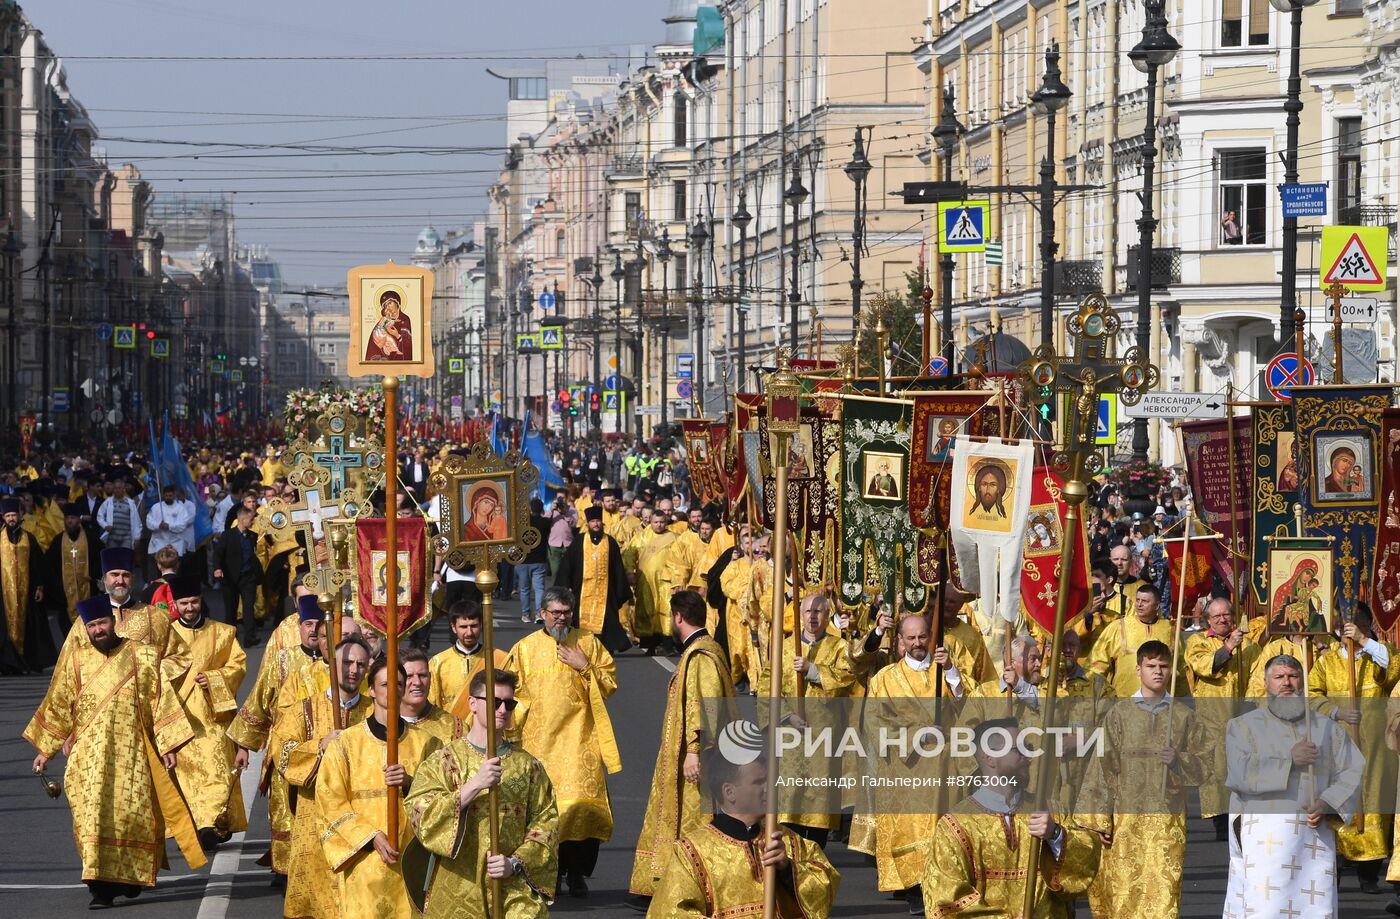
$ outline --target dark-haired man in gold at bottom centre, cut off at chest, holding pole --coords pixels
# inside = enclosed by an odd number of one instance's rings
[[[745,765],[718,754],[707,758],[706,785],[718,807],[671,845],[648,916],[762,916],[770,866],[777,869],[778,919],[832,913],[841,876],[820,846],[785,828],[763,839],[766,773],[763,755]]]

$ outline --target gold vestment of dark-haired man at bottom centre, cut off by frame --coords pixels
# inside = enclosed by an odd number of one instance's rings
[[[722,827],[722,829],[721,829]],[[672,843],[666,871],[648,916],[710,919],[763,915],[763,821],[745,827],[728,814],[699,822]],[[818,919],[832,913],[840,873],[822,849],[791,831],[783,832],[791,866],[780,874],[778,919]]]

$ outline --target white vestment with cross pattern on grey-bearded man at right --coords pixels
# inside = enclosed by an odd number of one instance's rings
[[[1292,748],[1303,734],[1317,745],[1309,771]],[[1316,829],[1310,800],[1351,820],[1364,759],[1331,719],[1309,712],[1285,721],[1267,707],[1232,719],[1225,728],[1229,801],[1229,884],[1224,919],[1336,919],[1337,834],[1329,818]],[[1334,822],[1334,821],[1333,821]]]

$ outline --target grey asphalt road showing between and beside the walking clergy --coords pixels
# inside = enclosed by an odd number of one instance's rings
[[[216,601],[217,602],[217,601]],[[497,604],[496,628],[503,647],[525,635],[514,602]],[[263,630],[266,635],[266,629]],[[433,651],[447,646],[447,629],[437,625]],[[246,692],[262,658],[262,646],[249,654]],[[643,657],[629,651],[617,660],[617,693],[609,700],[613,728],[622,749],[623,771],[609,776],[616,829],[603,845],[598,870],[589,881],[587,899],[561,897],[557,915],[627,916],[637,915],[623,904],[631,876],[633,848],[641,829],[647,806],[651,769],[655,763],[666,682],[671,678],[665,658]],[[73,846],[71,821],[64,800],[50,800],[38,779],[29,773],[34,749],[20,737],[39,700],[48,678],[0,678],[0,915],[38,913],[45,919],[87,913],[88,894],[80,880],[80,863]],[[62,779],[62,758],[49,766]],[[256,768],[248,773],[249,783]],[[267,919],[281,915],[281,894],[269,884],[269,873],[255,864],[267,846],[267,811],[262,800],[251,801],[248,834],[224,845],[210,866],[192,873],[175,849],[169,848],[171,870],[161,874],[154,891],[136,901],[118,901],[123,911],[150,919]],[[903,901],[893,901],[875,890],[875,867],[862,855],[841,843],[832,843],[827,855],[841,873],[841,890],[833,916],[907,915]],[[1187,867],[1182,885],[1182,916],[1217,919],[1225,897],[1225,845],[1214,841],[1208,824],[1191,821],[1187,839]],[[1343,874],[1340,916],[1361,919],[1383,916],[1387,897],[1366,897],[1357,891],[1355,876]],[[1079,916],[1088,916],[1086,904]]]

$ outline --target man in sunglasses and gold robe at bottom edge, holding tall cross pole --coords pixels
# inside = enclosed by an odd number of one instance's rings
[[[988,783],[938,818],[924,862],[924,906],[928,916],[1015,916],[1023,908],[1030,841],[1040,839],[1036,866],[1036,919],[1068,919],[1099,867],[1099,839],[1050,813],[1026,813],[1022,789],[1030,759],[1016,748],[993,756],[983,748],[986,731],[1015,734],[1016,719],[977,726],[973,745],[981,776],[1011,779]],[[1107,913],[1102,913],[1107,915]],[[1116,915],[1116,913],[1114,913]]]

